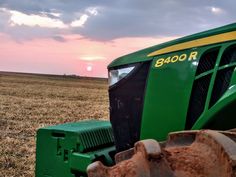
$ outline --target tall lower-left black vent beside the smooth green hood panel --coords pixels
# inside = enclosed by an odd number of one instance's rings
[[[202,114],[205,107],[211,74],[195,80],[189,102],[186,129],[190,129]]]

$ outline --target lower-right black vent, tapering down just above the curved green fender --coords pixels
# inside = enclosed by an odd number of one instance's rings
[[[228,89],[233,70],[234,67],[230,67],[218,71],[211,94],[210,107],[213,106]]]

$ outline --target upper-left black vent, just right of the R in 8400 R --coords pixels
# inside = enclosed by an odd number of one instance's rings
[[[219,47],[210,49],[209,51],[205,52],[199,60],[196,75],[199,75],[205,71],[213,69],[215,67],[218,53],[219,53]]]

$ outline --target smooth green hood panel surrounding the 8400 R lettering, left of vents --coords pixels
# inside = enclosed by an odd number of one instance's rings
[[[190,49],[155,57],[149,71],[142,116],[141,139],[165,140],[167,134],[184,130],[197,64],[192,61],[176,62],[156,68],[160,58],[197,51],[200,56],[208,47]]]

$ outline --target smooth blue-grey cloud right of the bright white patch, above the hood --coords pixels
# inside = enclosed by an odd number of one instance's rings
[[[206,7],[211,4],[215,8],[209,13]],[[230,9],[232,5],[236,2],[227,1],[223,5],[219,1],[203,0],[119,1],[113,6],[100,7],[99,15],[73,33],[104,41],[122,37],[183,36],[234,22],[232,17],[236,12]],[[225,14],[222,9],[230,11]],[[217,17],[213,13],[217,13]]]

